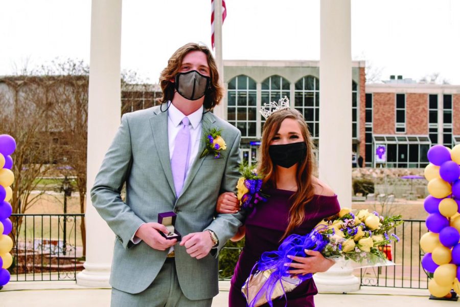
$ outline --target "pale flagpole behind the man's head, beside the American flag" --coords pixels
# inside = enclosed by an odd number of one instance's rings
[[[216,58],[219,79],[223,85],[223,60],[222,60],[222,0],[214,0],[214,55]],[[226,94],[226,93],[225,93]],[[222,98],[219,105],[214,107],[214,114],[226,119],[226,99]]]

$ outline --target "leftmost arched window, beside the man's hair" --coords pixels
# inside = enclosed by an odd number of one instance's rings
[[[241,131],[241,137],[256,137],[256,81],[240,75],[228,82],[227,120]]]

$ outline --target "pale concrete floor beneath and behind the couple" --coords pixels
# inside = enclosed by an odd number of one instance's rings
[[[225,307],[228,300],[228,282],[220,282],[220,293],[213,307]],[[369,306],[369,307],[441,307],[456,305],[452,301],[428,299],[428,290],[362,287],[349,294],[318,294],[317,307]],[[11,282],[0,291],[0,307],[108,307],[110,289],[89,289],[75,282]],[[242,306],[244,307],[244,306]]]

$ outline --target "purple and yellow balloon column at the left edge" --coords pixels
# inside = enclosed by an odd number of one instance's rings
[[[0,135],[0,288],[10,281],[8,268],[13,263],[10,254],[13,248],[13,240],[9,236],[13,225],[10,217],[13,209],[9,201],[13,196],[11,184],[14,181],[14,174],[11,171],[13,159],[11,153],[16,149],[16,141],[9,135]]]

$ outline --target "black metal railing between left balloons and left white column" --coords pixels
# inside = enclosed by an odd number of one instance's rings
[[[76,280],[84,214],[12,214],[10,281]]]

